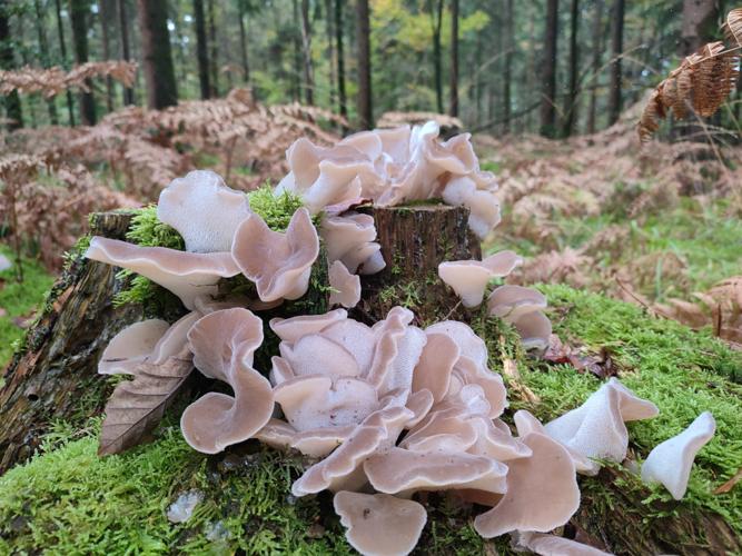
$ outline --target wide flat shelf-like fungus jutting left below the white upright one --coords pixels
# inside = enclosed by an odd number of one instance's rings
[[[149,278],[178,296],[187,309],[195,308],[196,298],[215,295],[219,279],[239,274],[229,252],[197,254],[140,247],[101,237],[90,240],[85,256]]]

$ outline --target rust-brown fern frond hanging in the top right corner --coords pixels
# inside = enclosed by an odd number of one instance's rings
[[[691,110],[706,118],[734,90],[742,47],[742,8],[729,12],[724,33],[732,48],[721,41],[704,44],[655,88],[639,121],[641,142],[650,140],[670,111],[679,120],[687,118]]]

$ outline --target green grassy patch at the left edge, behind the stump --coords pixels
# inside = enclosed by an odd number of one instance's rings
[[[0,252],[12,260],[10,249],[0,247]],[[0,369],[6,367],[13,351],[22,348],[26,338],[26,330],[12,319],[28,317],[47,297],[52,284],[51,275],[31,259],[23,259],[23,281],[20,284],[16,281],[12,268],[0,272],[0,307],[6,311],[0,316]]]

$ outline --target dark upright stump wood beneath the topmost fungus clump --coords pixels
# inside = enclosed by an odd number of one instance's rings
[[[360,207],[358,211],[374,217],[386,268],[362,277],[362,300],[354,318],[374,324],[395,305],[404,305],[415,312],[417,325],[466,320],[458,297],[438,278],[438,265],[482,258],[479,240],[468,229],[468,209],[427,205]]]

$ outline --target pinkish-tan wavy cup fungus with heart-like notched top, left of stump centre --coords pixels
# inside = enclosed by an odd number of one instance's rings
[[[273,231],[263,218],[250,215],[237,227],[231,255],[255,282],[260,300],[298,299],[309,289],[319,237],[304,208],[294,212],[285,234]]]

